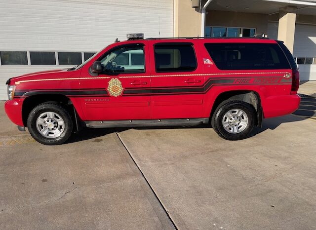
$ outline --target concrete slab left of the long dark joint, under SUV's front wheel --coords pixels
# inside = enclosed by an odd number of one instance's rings
[[[0,229],[173,229],[113,130],[44,146],[0,123]]]

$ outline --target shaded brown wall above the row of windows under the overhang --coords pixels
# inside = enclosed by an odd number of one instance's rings
[[[205,25],[256,28],[256,34],[267,34],[268,15],[208,10]]]

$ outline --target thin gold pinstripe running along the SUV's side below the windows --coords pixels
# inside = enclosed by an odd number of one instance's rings
[[[259,73],[218,73],[218,74],[175,74],[175,75],[156,75],[156,76],[121,76],[118,78],[136,78],[136,77],[194,77],[194,76],[216,76],[216,75],[258,75],[258,74],[290,74],[288,72],[259,72]],[[15,84],[33,81],[49,81],[49,80],[79,80],[79,79],[107,79],[112,77],[70,77],[70,78],[49,78],[49,79],[33,79],[15,81]]]

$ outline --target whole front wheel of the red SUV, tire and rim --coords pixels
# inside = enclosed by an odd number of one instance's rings
[[[58,103],[42,103],[28,117],[32,137],[44,145],[59,145],[70,137],[73,122],[67,110]]]

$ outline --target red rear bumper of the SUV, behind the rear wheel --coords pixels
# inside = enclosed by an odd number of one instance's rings
[[[282,116],[296,111],[301,97],[297,94],[270,96],[261,101],[264,118]]]

